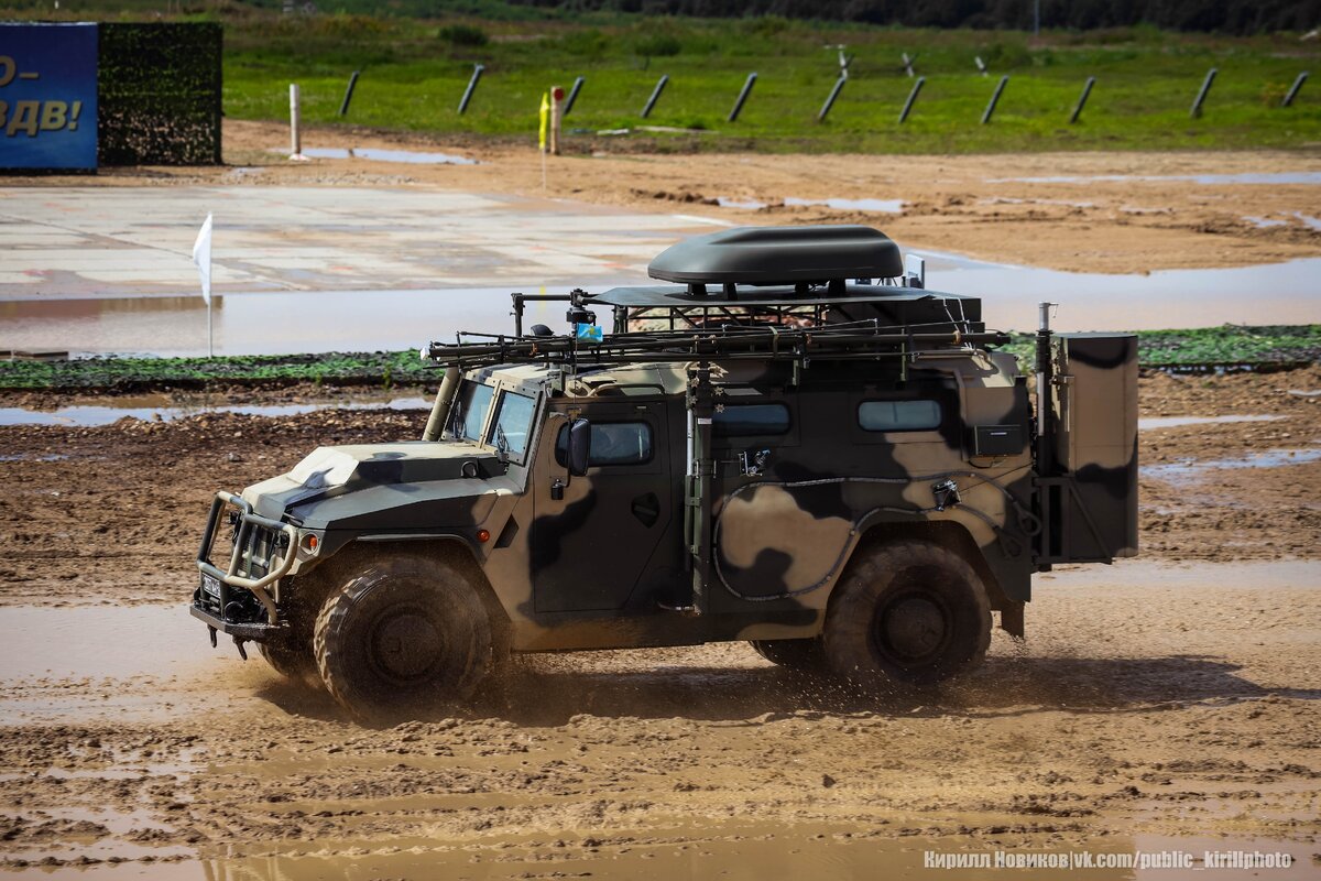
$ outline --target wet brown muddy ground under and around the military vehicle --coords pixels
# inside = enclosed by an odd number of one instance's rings
[[[0,425],[0,868],[873,878],[930,876],[929,851],[1256,849],[1293,860],[1256,877],[1316,877],[1317,391],[1316,367],[1144,378],[1143,556],[1040,576],[1026,643],[997,633],[939,695],[861,700],[732,643],[527,658],[388,729],[211,650],[184,604],[211,490],[413,437],[421,412]],[[71,403],[91,402],[0,399]],[[149,404],[169,405],[198,400]],[[1275,419],[1186,421],[1234,416]]]

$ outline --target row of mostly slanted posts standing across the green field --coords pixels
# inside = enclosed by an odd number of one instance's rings
[[[826,103],[822,104],[820,111],[816,114],[816,122],[822,123],[826,122],[826,118],[830,115],[831,107],[835,106],[835,100],[844,90],[844,83],[848,81],[849,61],[851,58],[847,58],[841,52],[839,79],[835,81],[835,85],[831,87],[830,94],[826,96]],[[904,69],[908,73],[908,75],[914,79],[914,82],[913,82],[913,88],[909,91],[908,100],[904,102],[904,108],[900,111],[901,123],[908,120],[909,114],[913,111],[913,104],[917,102],[917,96],[922,91],[922,86],[926,83],[926,77],[918,77],[913,70],[913,63],[915,61],[917,61],[915,55],[909,57],[908,53],[904,53]],[[987,69],[982,58],[978,58],[976,61],[978,61],[978,69],[982,71],[982,75],[987,75]],[[458,100],[460,116],[468,112],[468,106],[473,100],[473,94],[476,94],[477,91],[477,83],[481,82],[482,73],[485,70],[486,67],[482,65],[473,66],[473,75],[468,81],[468,87],[464,88],[464,96]],[[1202,79],[1202,86],[1201,88],[1197,90],[1197,96],[1193,99],[1193,110],[1190,112],[1190,116],[1193,119],[1201,118],[1202,104],[1206,102],[1206,96],[1211,91],[1211,83],[1215,82],[1217,73],[1218,71],[1215,67],[1211,67],[1209,71],[1206,71],[1206,77]],[[355,70],[353,71],[353,75],[349,77],[349,87],[345,88],[343,102],[341,102],[339,104],[339,116],[349,115],[349,103],[353,100],[353,90],[358,85],[358,74],[359,71]],[[1299,95],[1299,90],[1303,88],[1303,83],[1308,81],[1308,75],[1309,73],[1304,70],[1295,78],[1293,85],[1289,86],[1288,92],[1285,92],[1284,99],[1280,102],[1281,107],[1289,107],[1293,103],[1293,99],[1297,98]],[[573,81],[573,87],[569,90],[568,98],[564,100],[564,107],[560,112],[561,116],[568,116],[569,111],[573,110],[573,103],[577,100],[579,92],[583,90],[583,85],[585,82],[587,82],[585,77],[579,77],[577,79]],[[642,106],[642,112],[641,112],[642,119],[650,116],[651,111],[655,110],[657,102],[660,100],[660,92],[664,91],[664,87],[668,83],[670,83],[668,74],[663,74],[660,79],[657,81],[655,87],[651,90],[651,96],[647,98],[647,103]],[[744,104],[748,103],[748,96],[752,94],[752,88],[756,85],[757,85],[757,74],[756,73],[748,74],[748,79],[744,81],[742,88],[738,90],[738,98],[734,99],[734,106],[729,111],[729,116],[727,118],[728,122],[731,123],[737,122],[738,114],[742,112]],[[996,104],[1000,103],[1000,96],[1004,94],[1004,90],[1008,85],[1009,85],[1009,77],[1008,75],[1000,77],[1000,82],[996,83],[995,91],[991,94],[991,100],[987,103],[985,110],[982,112],[983,124],[991,122],[991,116],[995,114]],[[1087,82],[1083,83],[1082,87],[1082,94],[1078,96],[1078,102],[1074,104],[1073,112],[1069,115],[1070,123],[1078,122],[1078,118],[1082,115],[1082,108],[1087,104],[1087,98],[1091,95],[1091,90],[1095,85],[1096,85],[1096,78],[1087,77]],[[289,95],[291,114],[296,112],[296,103],[297,103],[296,88],[297,88],[296,86],[291,86],[291,95]],[[297,120],[295,120],[293,127],[296,131]],[[295,144],[295,148],[297,148],[297,144]],[[297,149],[295,149],[295,153],[297,153]]]

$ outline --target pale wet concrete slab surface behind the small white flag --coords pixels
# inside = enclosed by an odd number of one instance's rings
[[[0,188],[0,300],[635,280],[717,221],[556,199],[336,186]]]

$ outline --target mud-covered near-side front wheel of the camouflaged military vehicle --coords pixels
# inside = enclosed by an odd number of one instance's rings
[[[456,567],[399,555],[330,592],[313,647],[341,707],[392,721],[466,700],[491,670],[491,633],[477,588]]]

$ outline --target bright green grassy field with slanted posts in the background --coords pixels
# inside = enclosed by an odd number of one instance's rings
[[[36,0],[11,3],[18,7],[11,15],[50,15],[49,8],[22,11]],[[280,16],[236,3],[180,17],[225,21],[225,112],[234,119],[287,119],[288,83],[299,82],[305,123],[338,124],[349,74],[361,70],[350,124],[441,139],[532,140],[543,90],[568,87],[584,75],[587,85],[565,128],[593,133],[630,128],[638,137],[639,111],[658,77],[668,74],[670,86],[646,124],[701,133],[642,135],[650,149],[945,153],[1321,143],[1321,83],[1306,85],[1293,107],[1279,106],[1293,78],[1303,70],[1317,71],[1321,61],[1321,45],[1301,42],[1297,34],[1236,38],[1139,26],[1055,32],[1033,40],[1016,32],[773,17],[569,16],[528,7],[482,8],[522,20]],[[95,13],[79,8],[67,15]],[[114,15],[145,17],[147,12]],[[816,112],[839,73],[834,48],[839,44],[847,45],[855,61],[828,122],[819,124]],[[901,125],[897,115],[913,85],[901,69],[902,52],[917,54],[926,86]],[[978,73],[978,55],[991,77]],[[486,74],[468,114],[460,116],[458,99],[474,63],[485,65]],[[1205,116],[1192,120],[1193,96],[1213,66],[1219,77]],[[760,75],[752,98],[742,116],[728,123],[725,116],[752,71]],[[1011,82],[993,122],[983,125],[982,111],[1001,74]],[[1087,77],[1098,78],[1096,88],[1082,120],[1069,125]],[[571,136],[568,149],[588,149],[602,140]],[[612,139],[620,148],[625,141]]]

